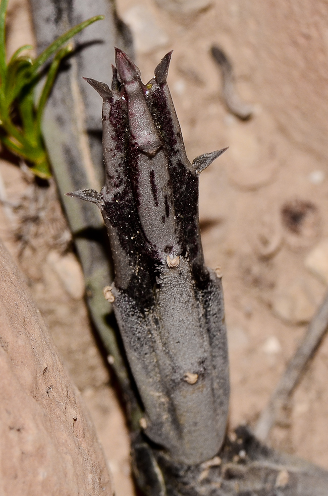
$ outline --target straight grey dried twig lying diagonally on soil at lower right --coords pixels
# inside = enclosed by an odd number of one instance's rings
[[[313,358],[327,329],[328,293],[321,307],[311,320],[308,330],[294,356],[289,361],[284,374],[271,396],[268,406],[263,410],[257,422],[254,433],[262,441],[268,439],[280,408],[286,403],[299,383],[307,364]]]

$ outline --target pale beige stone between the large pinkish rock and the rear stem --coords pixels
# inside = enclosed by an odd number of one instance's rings
[[[73,253],[60,255],[52,250],[47,256],[47,262],[57,274],[64,289],[73,300],[80,300],[85,291],[84,277],[81,265]]]

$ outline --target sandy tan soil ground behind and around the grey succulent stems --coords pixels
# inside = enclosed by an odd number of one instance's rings
[[[117,8],[134,34],[144,82],[174,50],[168,82],[189,158],[229,146],[201,174],[200,221],[206,263],[223,274],[229,429],[252,427],[327,290],[328,4],[118,0]],[[25,0],[9,1],[7,20],[9,55],[34,44]],[[253,105],[248,121],[224,104],[213,45]],[[124,416],[90,327],[55,186],[34,186],[17,160],[1,157],[0,237],[87,402],[116,495],[131,496]],[[270,443],[328,469],[327,418],[325,338]]]

